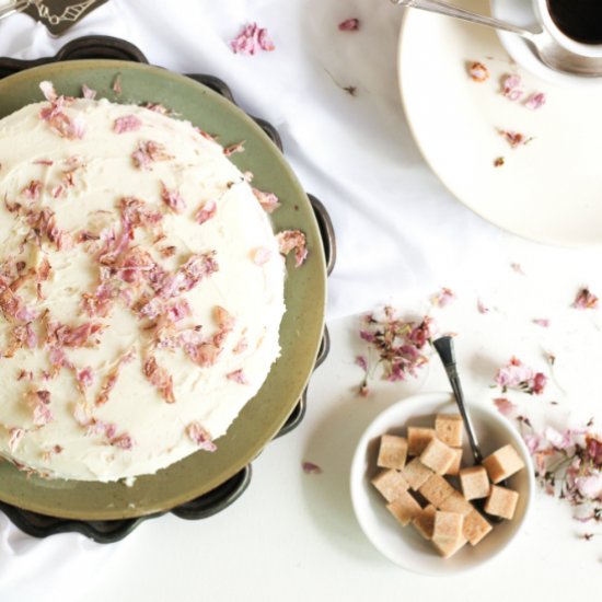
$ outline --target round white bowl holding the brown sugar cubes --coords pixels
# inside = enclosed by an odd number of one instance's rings
[[[448,559],[441,558],[432,544],[424,540],[412,525],[403,528],[386,510],[384,498],[370,483],[378,472],[379,437],[384,432],[405,435],[408,425],[432,426],[439,413],[458,413],[451,394],[420,394],[390,406],[377,416],[362,435],[351,464],[351,501],[368,539],[393,563],[428,575],[456,574],[497,556],[519,534],[534,494],[531,459],[518,431],[497,410],[471,406],[471,418],[484,455],[511,443],[525,463],[525,468],[508,479],[508,486],[520,494],[514,518],[495,524],[494,530],[478,545],[473,547],[466,544]],[[465,441],[463,464],[470,465],[471,459],[470,447]]]

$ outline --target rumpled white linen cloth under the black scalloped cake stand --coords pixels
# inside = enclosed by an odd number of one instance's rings
[[[0,56],[49,56],[76,37],[105,34],[134,43],[151,63],[222,78],[245,111],[278,128],[302,185],[331,212],[338,246],[332,320],[486,278],[513,240],[454,200],[410,137],[396,76],[402,12],[387,0],[111,0],[60,38],[26,15],[0,22]],[[360,31],[339,32],[350,16]],[[229,40],[253,21],[268,28],[276,50],[234,55]],[[356,96],[335,82],[356,86]],[[0,600],[40,591],[44,601],[82,599],[125,545],[74,534],[37,541],[0,514]]]

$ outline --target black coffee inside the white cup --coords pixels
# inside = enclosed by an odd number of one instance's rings
[[[602,0],[547,0],[552,20],[566,36],[602,44]]]

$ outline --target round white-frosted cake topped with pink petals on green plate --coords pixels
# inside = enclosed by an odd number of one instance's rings
[[[131,481],[215,451],[259,390],[304,239],[192,124],[40,88],[0,120],[0,455]]]

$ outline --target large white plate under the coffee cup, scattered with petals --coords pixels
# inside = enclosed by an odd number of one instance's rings
[[[459,2],[460,3],[460,2]],[[463,0],[485,12],[484,0]],[[490,72],[473,82],[468,65]],[[431,169],[488,221],[528,239],[568,246],[602,243],[602,88],[563,86],[517,67],[491,30],[407,10],[398,59],[405,113]],[[500,94],[505,74],[522,76],[530,111]],[[511,149],[499,129],[533,140]],[[503,157],[505,165],[494,161]]]

